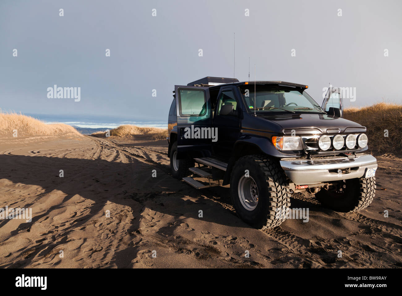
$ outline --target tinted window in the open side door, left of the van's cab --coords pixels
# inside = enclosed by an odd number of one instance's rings
[[[207,112],[202,89],[179,89],[180,116],[203,116]]]

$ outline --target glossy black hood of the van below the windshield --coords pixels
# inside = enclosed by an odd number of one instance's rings
[[[257,114],[257,117],[275,122],[285,135],[295,130],[297,135],[338,134],[365,132],[356,122],[327,114]]]

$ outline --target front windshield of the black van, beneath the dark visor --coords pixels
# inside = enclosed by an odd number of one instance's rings
[[[304,89],[280,85],[239,86],[248,112],[325,113]]]

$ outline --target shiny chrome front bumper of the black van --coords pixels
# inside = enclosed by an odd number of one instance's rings
[[[369,168],[377,168],[377,159],[373,155],[361,155],[355,158],[337,159],[292,159],[280,161],[286,176],[296,185],[309,185],[321,182],[361,178]],[[348,173],[338,170],[350,169]]]

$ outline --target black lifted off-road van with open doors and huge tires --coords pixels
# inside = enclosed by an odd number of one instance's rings
[[[199,189],[230,184],[236,213],[257,228],[279,226],[291,194],[306,190],[335,211],[365,209],[377,169],[366,128],[342,118],[339,89],[328,89],[322,106],[307,89],[219,77],[176,85],[172,175]]]

